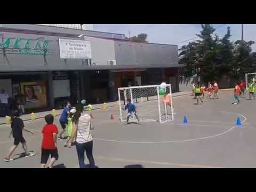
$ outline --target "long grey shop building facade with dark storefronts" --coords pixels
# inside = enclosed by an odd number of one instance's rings
[[[63,101],[116,101],[118,87],[166,82],[179,91],[178,46],[126,41],[123,34],[1,24],[0,89],[26,97],[25,108]],[[59,39],[90,42],[90,58],[60,59]]]

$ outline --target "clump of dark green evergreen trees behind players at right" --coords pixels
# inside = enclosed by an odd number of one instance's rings
[[[213,34],[215,29],[210,24],[201,25],[197,35],[200,39],[190,42],[180,49],[179,62],[185,76],[201,76],[204,82],[218,81],[223,75],[231,78],[244,78],[245,73],[256,70],[256,53],[252,52],[253,41],[230,41],[231,31],[220,38]]]

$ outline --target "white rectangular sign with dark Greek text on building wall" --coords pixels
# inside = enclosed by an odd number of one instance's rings
[[[60,59],[91,59],[91,42],[73,39],[59,39]]]

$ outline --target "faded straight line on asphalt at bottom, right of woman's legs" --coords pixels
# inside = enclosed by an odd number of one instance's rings
[[[125,162],[125,163],[145,163],[145,164],[156,164],[156,165],[167,165],[167,166],[182,166],[182,167],[194,167],[194,168],[218,168],[213,166],[205,165],[190,165],[190,164],[180,164],[180,163],[168,163],[168,162],[154,162],[154,161],[143,161],[137,159],[123,159],[123,158],[108,158],[102,156],[95,156],[95,159],[103,159],[114,162]],[[79,166],[76,166],[78,168]]]

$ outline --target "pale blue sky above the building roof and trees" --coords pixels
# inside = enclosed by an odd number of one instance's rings
[[[215,31],[220,37],[227,33],[227,27],[231,29],[231,41],[241,39],[241,24],[214,24]],[[222,26],[222,27],[221,27]],[[178,44],[187,39],[195,37],[201,30],[199,24],[94,24],[94,30],[106,31],[111,33],[121,33],[129,37],[140,33],[148,34],[150,43]],[[244,24],[244,40],[256,42],[256,25]],[[185,45],[181,43],[179,46]],[[253,45],[253,51],[256,51],[256,45]]]

